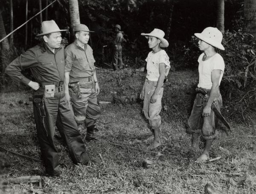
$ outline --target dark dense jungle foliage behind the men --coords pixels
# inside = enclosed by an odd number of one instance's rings
[[[25,0],[13,5],[14,27],[25,22]],[[206,3],[207,2],[207,3]],[[44,7],[42,0],[42,7]],[[6,32],[10,31],[9,1],[0,0]],[[23,11],[24,10],[24,11]],[[39,11],[38,1],[29,1],[29,17]],[[125,65],[139,68],[145,65],[148,53],[143,32],[154,28],[165,31],[169,41],[166,49],[175,70],[196,68],[200,51],[193,36],[205,27],[215,27],[215,1],[206,0],[79,0],[80,22],[86,24],[92,33],[89,44],[93,48],[96,65],[110,62],[113,26],[122,26],[124,34],[123,58]],[[45,18],[43,12],[43,18]],[[70,29],[68,0],[58,0],[48,9],[48,20],[55,20],[63,29]],[[40,31],[39,17],[28,24],[28,45],[24,48],[24,27],[14,34],[14,47],[3,53],[1,89],[5,88],[7,77],[3,70],[12,59],[27,48],[35,45],[35,35]],[[72,32],[63,34],[66,44],[73,41]],[[256,112],[256,59],[255,42],[243,31],[243,0],[225,0],[225,51],[219,51],[226,63],[221,83],[224,107],[232,107],[230,118],[254,121]],[[103,46],[105,46],[103,48]],[[26,72],[29,75],[29,72]]]

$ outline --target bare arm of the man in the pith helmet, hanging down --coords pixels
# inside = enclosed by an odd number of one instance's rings
[[[218,98],[218,95],[220,93],[219,91],[219,79],[221,76],[221,70],[212,70],[212,88],[210,91],[210,96],[208,99],[208,102],[206,104],[206,106],[204,107],[204,110],[202,112],[203,116],[209,116],[211,113],[211,106],[213,101]]]

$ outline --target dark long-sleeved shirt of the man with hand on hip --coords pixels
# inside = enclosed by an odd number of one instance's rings
[[[6,67],[6,73],[16,82],[27,85],[31,80],[21,73],[27,68],[38,83],[64,81],[64,46],[55,49],[55,53],[47,45],[30,48]]]

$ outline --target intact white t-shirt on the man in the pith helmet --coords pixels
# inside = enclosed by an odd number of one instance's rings
[[[219,85],[221,84],[221,79],[223,77],[225,63],[222,58],[222,56],[219,53],[216,53],[206,61],[203,61],[204,53],[202,53],[199,58],[199,83],[198,87],[202,87],[205,89],[211,89],[212,88],[212,70],[221,70],[221,76],[219,79]]]

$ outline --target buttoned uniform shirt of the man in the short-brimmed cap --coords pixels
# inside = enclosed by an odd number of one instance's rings
[[[81,48],[77,42],[73,42],[65,49],[65,72],[70,72],[71,78],[85,78],[93,76],[95,72],[95,59],[93,49],[89,45]]]

